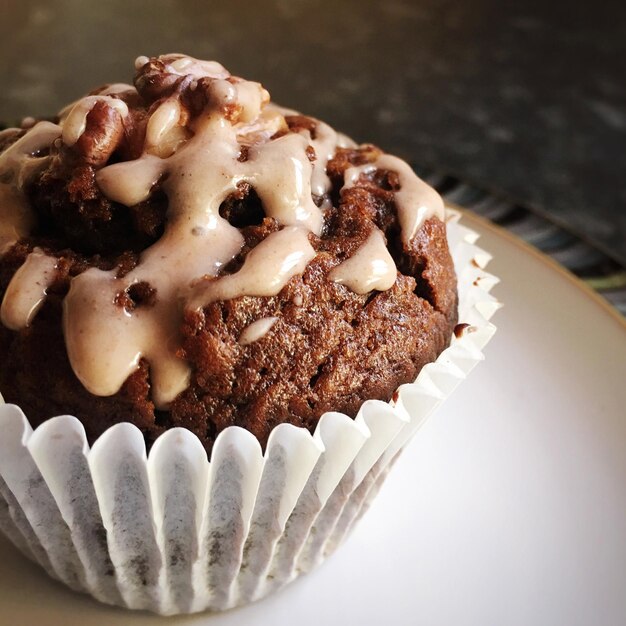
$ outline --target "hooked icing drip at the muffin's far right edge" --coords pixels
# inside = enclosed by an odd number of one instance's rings
[[[379,156],[374,163],[348,168],[344,175],[344,188],[353,187],[361,174],[369,174],[377,169],[395,172],[400,179],[400,189],[395,193],[395,201],[402,241],[405,244],[415,237],[422,224],[430,217],[444,219],[441,196],[419,178],[406,161],[390,154]]]

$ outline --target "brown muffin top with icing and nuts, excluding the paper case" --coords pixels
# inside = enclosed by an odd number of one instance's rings
[[[390,400],[449,344],[443,203],[402,160],[183,55],[0,133],[0,391],[210,450]]]

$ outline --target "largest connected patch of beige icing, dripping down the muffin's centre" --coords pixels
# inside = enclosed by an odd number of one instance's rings
[[[147,199],[163,177],[169,210],[165,234],[144,251],[133,271],[118,279],[114,271],[88,270],[72,281],[65,298],[70,362],[85,387],[96,395],[118,391],[143,357],[151,367],[153,399],[157,406],[167,406],[189,380],[188,365],[176,354],[181,302],[199,309],[218,299],[275,295],[315,256],[307,237],[309,232],[321,232],[323,218],[311,196],[307,139],[292,134],[269,141],[271,135],[266,136],[250,148],[247,161],[239,162],[239,139],[250,131],[259,136],[259,119],[252,128],[241,121],[232,124],[215,109],[224,101],[232,102],[234,89],[245,119],[260,110],[267,92],[258,83],[245,89],[243,82],[224,83],[218,79],[212,84],[216,85],[211,92],[215,108],[195,121],[195,134],[174,154],[161,159],[146,152],[135,161],[116,163],[97,173],[101,190],[128,206]],[[169,107],[167,103],[161,107]],[[166,109],[162,114],[161,107],[153,113],[157,116],[154,124],[152,118],[148,123],[148,147],[176,125],[176,113]],[[273,130],[276,116],[268,120]],[[219,215],[221,203],[240,182],[249,182],[266,214],[285,227],[256,246],[239,272],[215,279],[220,267],[243,245],[239,230]],[[114,304],[117,293],[141,281],[156,289],[154,306],[129,313]]]

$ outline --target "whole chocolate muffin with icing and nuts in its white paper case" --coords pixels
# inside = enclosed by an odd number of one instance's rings
[[[341,543],[493,280],[401,159],[218,63],[135,68],[0,133],[0,528],[101,601],[220,610]]]

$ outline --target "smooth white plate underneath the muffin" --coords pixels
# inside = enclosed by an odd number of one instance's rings
[[[465,219],[502,279],[498,333],[321,569],[243,609],[163,620],[67,591],[1,539],[0,624],[626,623],[626,324]]]

